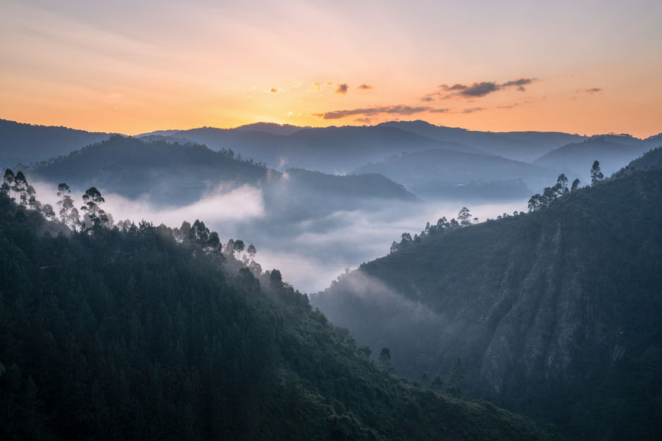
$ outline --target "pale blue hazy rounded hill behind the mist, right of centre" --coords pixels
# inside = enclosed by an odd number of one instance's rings
[[[558,172],[527,162],[443,149],[394,155],[354,172],[383,174],[419,196],[460,199],[524,198],[530,188],[542,188],[558,177]]]

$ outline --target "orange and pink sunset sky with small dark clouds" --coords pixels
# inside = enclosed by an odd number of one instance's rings
[[[0,118],[662,132],[660,1],[0,0]]]

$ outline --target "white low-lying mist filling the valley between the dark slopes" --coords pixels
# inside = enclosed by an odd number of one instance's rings
[[[50,203],[57,211],[56,188],[51,184],[30,181],[42,203]],[[184,221],[203,221],[209,229],[218,231],[221,241],[240,238],[257,249],[256,261],[263,269],[280,269],[283,279],[294,288],[315,293],[330,285],[346,268],[354,269],[389,253],[393,241],[400,241],[405,231],[420,233],[426,222],[457,217],[467,206],[479,222],[504,212],[525,210],[526,200],[507,203],[471,203],[394,200],[366,200],[354,203],[351,209],[335,210],[340,201],[325,200],[327,210],[283,216],[271,212],[263,191],[249,185],[225,191],[218,186],[194,203],[181,207],[157,205],[149,196],[132,200],[99,188],[106,203],[104,210],[115,222],[130,219],[178,227]],[[73,188],[75,205],[82,205],[84,188]],[[359,206],[356,208],[356,206]]]

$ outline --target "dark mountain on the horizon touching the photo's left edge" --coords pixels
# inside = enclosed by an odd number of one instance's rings
[[[110,136],[109,133],[0,120],[0,166],[47,160]]]

